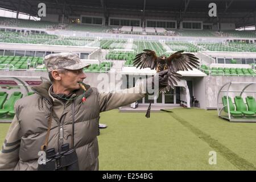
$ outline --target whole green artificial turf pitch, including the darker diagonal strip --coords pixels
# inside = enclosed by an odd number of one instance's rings
[[[100,170],[255,170],[256,123],[232,123],[216,110],[101,113]],[[3,142],[9,124],[0,124]],[[209,164],[216,151],[217,164]]]

